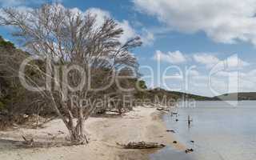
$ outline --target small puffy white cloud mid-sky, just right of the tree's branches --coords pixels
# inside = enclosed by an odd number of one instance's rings
[[[154,60],[170,62],[171,64],[179,64],[182,62],[186,62],[186,57],[179,50],[174,52],[168,52],[167,54],[164,54],[162,53],[162,51],[157,50],[154,54]]]

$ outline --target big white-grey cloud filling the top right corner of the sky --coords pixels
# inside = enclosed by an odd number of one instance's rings
[[[171,30],[204,31],[216,42],[256,45],[255,0],[133,0],[142,13],[158,18]]]

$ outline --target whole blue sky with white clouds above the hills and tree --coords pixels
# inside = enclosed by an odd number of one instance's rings
[[[132,50],[149,88],[205,96],[256,91],[256,0],[0,0],[19,10],[60,2],[79,12],[114,18],[121,42],[140,36]],[[15,42],[10,28],[3,38]]]

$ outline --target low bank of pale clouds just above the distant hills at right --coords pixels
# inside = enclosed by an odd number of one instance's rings
[[[184,71],[182,74],[187,77],[178,82],[174,80],[167,82],[168,87],[182,83],[182,91],[207,96],[254,90],[256,70],[249,70],[251,63],[238,58],[238,54],[228,58],[220,58],[217,55],[214,53],[186,54],[180,51],[162,53],[157,50],[154,59],[171,64],[186,62],[188,66],[192,65],[191,70]]]

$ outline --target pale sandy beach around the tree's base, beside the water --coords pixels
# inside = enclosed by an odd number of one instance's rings
[[[158,150],[126,150],[116,142],[159,142],[173,146],[174,137],[166,132],[162,122],[162,113],[155,108],[135,107],[130,113],[119,117],[89,118],[86,121],[86,131],[90,143],[85,146],[62,146],[52,148],[17,148],[13,141],[22,141],[22,135],[33,137],[34,141],[62,141],[66,138],[67,130],[64,124],[56,119],[38,130],[19,128],[0,132],[0,159],[14,160],[106,160],[106,159],[149,159],[149,154]],[[58,136],[56,136],[58,135]],[[174,145],[178,150],[185,146]]]

